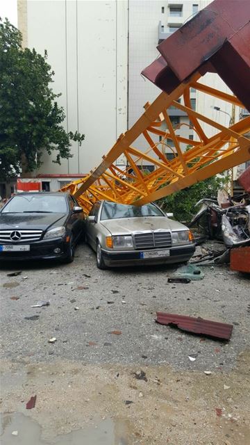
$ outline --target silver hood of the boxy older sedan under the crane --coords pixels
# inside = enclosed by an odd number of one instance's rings
[[[132,232],[150,232],[152,230],[188,230],[185,225],[165,218],[165,216],[103,220],[101,225],[106,227],[112,235],[127,235]]]

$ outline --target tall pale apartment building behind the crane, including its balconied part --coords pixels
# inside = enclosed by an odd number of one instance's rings
[[[60,105],[66,112],[65,128],[85,133],[82,147],[72,143],[73,157],[61,165],[44,154],[42,167],[34,172],[44,189],[57,189],[71,179],[88,173],[101,161],[120,133],[131,127],[153,102],[160,90],[140,72],[158,57],[156,46],[210,0],[19,0],[19,29],[24,45],[41,54],[47,49],[55,71],[53,88],[62,92]],[[206,74],[203,83],[228,91],[215,74]],[[229,124],[231,104],[225,108],[218,99],[205,99],[192,90],[192,108],[221,124]],[[236,111],[238,113],[238,111]],[[197,136],[185,112],[169,109],[176,133]],[[208,136],[213,129],[203,125]],[[160,137],[155,137],[161,143]],[[143,148],[144,140],[136,146]],[[164,144],[172,159],[172,140]],[[181,145],[185,150],[186,145]],[[124,167],[121,156],[117,163]],[[145,165],[145,168],[152,168]]]

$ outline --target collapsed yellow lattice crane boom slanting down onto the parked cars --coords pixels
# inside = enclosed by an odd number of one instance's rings
[[[219,4],[219,7],[221,7],[223,2],[224,0],[215,0],[210,4],[210,10],[211,8],[213,10],[213,5],[218,8]],[[214,8],[215,11],[216,8]],[[206,11],[206,8],[201,13],[204,11]],[[190,24],[192,29],[194,29],[195,26],[199,27],[203,20],[207,21],[207,15],[205,14],[203,17],[201,13],[190,20],[188,24],[182,26],[181,29],[185,31],[185,28],[190,26]],[[215,18],[219,20],[218,14],[215,15]],[[231,19],[233,20],[233,18]],[[242,32],[242,29],[245,32],[244,26],[243,28],[241,26],[240,32]],[[190,33],[189,29],[187,31]],[[206,33],[209,31],[208,26]],[[178,32],[176,31],[174,35],[178,34]],[[249,33],[250,40],[250,26],[247,27],[247,32]],[[222,35],[222,37],[225,40],[225,36]],[[176,38],[178,40],[178,35]],[[233,38],[235,38],[235,34]],[[241,36],[239,35],[238,38],[241,38]],[[169,39],[163,43],[171,44]],[[226,42],[231,44],[231,39],[228,38]],[[186,43],[184,49],[185,46]],[[160,46],[158,49],[160,50]],[[163,47],[162,54],[164,49]],[[180,44],[178,49],[180,49]],[[222,46],[222,49],[224,50],[224,46]],[[243,49],[241,50],[243,51]],[[226,56],[228,56],[228,51],[227,49]],[[247,51],[249,64],[246,65],[246,70],[250,74],[249,47],[247,47]],[[171,51],[169,52],[171,56]],[[239,50],[238,56],[241,57]],[[206,60],[206,63],[202,62],[200,64],[199,60],[193,60],[192,56],[190,57],[189,55],[188,63],[190,63],[188,69],[191,70],[191,74],[183,78],[182,81],[180,79],[184,76],[182,71],[185,72],[187,70],[186,65],[172,69],[166,60],[163,60],[163,56],[145,69],[143,74],[156,85],[160,85],[164,92],[152,104],[144,106],[145,111],[142,116],[131,129],[119,136],[108,154],[103,156],[103,161],[97,168],[83,179],[74,181],[62,188],[62,191],[70,191],[78,199],[85,213],[89,213],[94,202],[102,199],[124,204],[133,203],[135,205],[158,200],[160,197],[191,186],[197,181],[216,175],[250,159],[250,139],[247,134],[250,131],[250,117],[239,120],[239,122],[232,124],[230,127],[224,127],[222,124],[192,110],[190,101],[190,88],[194,88],[208,98],[211,96],[217,97],[226,103],[233,104],[233,106],[244,108],[244,104],[246,104],[246,102],[242,103],[244,95],[238,86],[234,88],[235,79],[232,76],[233,80],[230,77],[227,83],[230,83],[231,89],[234,92],[237,90],[240,93],[238,96],[241,97],[241,101],[234,95],[228,95],[202,83],[203,74],[209,71],[215,72],[220,70],[215,54],[209,61]],[[217,69],[215,70],[216,63]],[[212,64],[213,67],[211,69]],[[193,69],[194,67],[196,67],[196,70]],[[178,76],[176,76],[176,72],[178,72]],[[226,81],[225,78],[228,76],[228,73],[220,72],[220,74]],[[178,102],[180,98],[182,98],[182,103]],[[173,106],[188,115],[190,128],[194,131],[196,140],[190,140],[178,134],[180,125],[174,127],[168,114],[169,107]],[[214,136],[208,137],[206,135],[202,122],[213,127]],[[161,136],[161,140],[156,142],[156,137],[159,140],[159,136]],[[138,149],[138,138],[140,138],[140,146],[142,145],[142,139],[144,140],[144,149]],[[171,145],[168,144],[169,140],[172,141]],[[183,144],[188,145],[190,149],[183,152],[181,149]],[[167,147],[173,153],[171,161],[166,156]],[[116,165],[117,159],[122,155],[126,159],[125,170]],[[153,171],[145,174],[142,168],[143,165],[153,165]]]

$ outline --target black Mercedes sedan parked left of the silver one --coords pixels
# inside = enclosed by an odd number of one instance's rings
[[[83,235],[83,209],[68,193],[18,193],[0,211],[0,261],[72,262]]]

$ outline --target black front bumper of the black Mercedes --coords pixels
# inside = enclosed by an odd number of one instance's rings
[[[1,245],[13,245],[13,243],[2,243]],[[26,252],[0,252],[0,261],[16,261],[22,259],[63,259],[67,257],[69,252],[69,243],[66,242],[66,238],[54,238],[41,241],[33,241],[32,243],[19,243],[29,244],[31,250]],[[60,253],[56,254],[53,250],[60,248]]]

